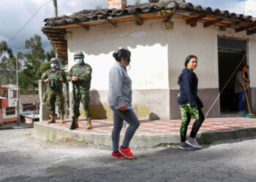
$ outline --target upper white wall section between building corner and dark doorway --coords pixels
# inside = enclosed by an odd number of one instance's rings
[[[168,58],[170,89],[178,89],[178,76],[184,68],[188,55],[196,55],[198,65],[195,74],[199,79],[198,88],[217,88],[218,51],[217,32],[202,28],[200,23],[192,28],[184,20],[173,20],[173,31],[168,33]]]

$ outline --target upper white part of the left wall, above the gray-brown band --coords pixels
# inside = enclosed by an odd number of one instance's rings
[[[118,23],[83,28],[72,28],[68,40],[69,69],[74,64],[73,54],[82,50],[85,62],[91,65],[91,90],[108,90],[108,71],[116,62],[113,52],[125,48],[132,52],[128,74],[135,90],[167,89],[167,39],[161,29],[161,21],[145,21],[142,26],[135,22]]]

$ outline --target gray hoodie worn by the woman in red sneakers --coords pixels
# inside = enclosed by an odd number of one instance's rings
[[[132,103],[132,80],[127,74],[127,67],[117,61],[109,72],[108,103],[110,106]]]

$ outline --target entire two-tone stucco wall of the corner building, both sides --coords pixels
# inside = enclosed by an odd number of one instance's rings
[[[173,19],[173,30],[162,29],[162,20],[145,20],[142,26],[135,22],[71,28],[72,39],[68,40],[69,69],[75,64],[73,54],[82,50],[85,61],[93,68],[91,80],[91,106],[95,116],[110,118],[108,106],[108,71],[115,63],[113,52],[126,48],[132,52],[131,68],[128,74],[132,78],[135,112],[140,119],[150,119],[150,114],[160,119],[176,118],[178,91],[177,79],[184,68],[187,55],[197,55],[198,66],[195,70],[199,79],[199,94],[208,111],[219,93],[218,37],[231,39],[249,39],[255,41],[255,35],[246,36],[246,31],[235,33],[233,28],[219,31],[218,26],[203,28],[197,23],[195,28],[184,20]],[[256,87],[256,44],[249,46],[247,61],[250,66],[251,87]],[[71,86],[69,85],[70,91]],[[169,93],[168,93],[169,92]],[[208,98],[211,95],[211,99]],[[72,96],[70,94],[70,96]],[[143,109],[141,109],[143,108]],[[145,108],[145,109],[144,109]],[[219,100],[209,116],[219,116]],[[80,108],[84,114],[83,108]],[[100,116],[98,116],[102,113]]]

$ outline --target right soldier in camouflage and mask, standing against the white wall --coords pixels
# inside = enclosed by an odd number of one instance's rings
[[[75,84],[75,127],[78,127],[78,117],[80,116],[80,101],[86,111],[87,130],[91,129],[91,108],[90,108],[90,87],[91,87],[91,66],[83,62],[83,52],[75,52],[76,64],[72,66],[67,76],[67,80]],[[74,100],[72,100],[74,106]]]

